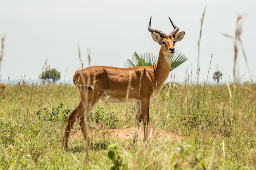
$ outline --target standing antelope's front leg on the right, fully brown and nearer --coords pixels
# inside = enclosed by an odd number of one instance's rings
[[[144,141],[148,140],[148,119],[149,119],[149,103],[150,98],[144,98],[140,100],[142,121],[144,126]]]

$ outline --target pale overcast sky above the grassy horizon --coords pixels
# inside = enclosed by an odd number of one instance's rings
[[[254,79],[256,67],[256,0],[0,0],[0,35],[6,35],[1,79],[37,78],[48,59],[51,68],[72,77],[80,68],[78,43],[82,58],[88,66],[87,48],[92,65],[123,67],[132,54],[158,54],[160,45],[148,32],[152,28],[170,33],[168,16],[185,31],[184,39],[175,48],[188,61],[176,68],[176,79],[184,80],[185,70],[192,64],[197,68],[197,41],[200,19],[207,5],[200,50],[200,80],[205,80],[213,53],[210,80],[216,64],[224,80],[232,79],[233,43],[221,33],[234,35],[238,14],[245,14],[242,41],[248,57],[251,74],[238,55],[240,76]]]

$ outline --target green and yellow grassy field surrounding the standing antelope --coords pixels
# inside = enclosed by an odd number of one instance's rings
[[[0,93],[0,169],[86,168],[78,122],[62,149],[67,114],[78,102],[71,85],[7,86]],[[133,103],[100,102],[93,114],[90,169],[256,168],[255,84],[165,88],[151,101],[147,145],[118,135],[134,126]]]

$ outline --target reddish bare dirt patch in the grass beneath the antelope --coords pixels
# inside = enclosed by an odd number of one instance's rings
[[[123,129],[102,129],[102,127],[96,127],[95,129],[90,129],[90,135],[95,135],[97,137],[109,137],[109,138],[117,138],[120,140],[133,139],[134,135],[134,127],[123,128]],[[76,129],[74,132],[70,133],[71,138],[81,137],[82,131],[80,129]],[[148,138],[156,138],[161,141],[170,141],[170,140],[178,140],[180,141],[182,136],[180,134],[162,130],[159,128],[148,127]],[[138,131],[138,140],[143,139],[143,127],[139,128]]]

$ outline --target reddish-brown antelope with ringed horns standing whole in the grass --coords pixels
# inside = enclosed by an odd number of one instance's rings
[[[182,40],[185,35],[184,31],[178,32],[179,28],[174,25],[170,17],[169,20],[174,30],[169,35],[158,29],[152,29],[151,19],[152,17],[150,17],[148,31],[153,40],[161,46],[156,64],[133,68],[90,66],[75,72],[73,82],[80,92],[80,103],[68,115],[62,141],[63,147],[67,147],[70,129],[77,118],[83,134],[87,134],[87,132],[84,133],[86,131],[84,119],[87,120],[88,113],[100,99],[110,103],[127,102],[127,99],[136,102],[133,141],[134,143],[137,142],[141,120],[144,126],[144,141],[148,140],[150,98],[158,94],[162,88],[170,72],[172,55],[175,53],[175,43]],[[86,140],[85,135],[84,138]]]

